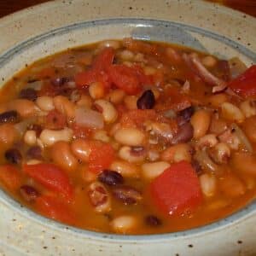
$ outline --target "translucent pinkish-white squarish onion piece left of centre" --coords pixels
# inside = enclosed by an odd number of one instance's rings
[[[75,122],[77,125],[89,128],[102,129],[104,127],[102,113],[89,108],[77,108],[75,110]]]

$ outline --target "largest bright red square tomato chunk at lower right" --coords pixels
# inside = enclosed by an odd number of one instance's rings
[[[173,164],[150,183],[154,204],[169,215],[193,211],[203,200],[195,170],[185,161]]]

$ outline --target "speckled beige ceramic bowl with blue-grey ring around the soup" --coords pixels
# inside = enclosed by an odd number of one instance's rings
[[[69,0],[0,20],[0,81],[67,47],[132,36],[256,62],[256,20],[201,1]],[[38,216],[0,191],[0,255],[256,255],[256,204],[195,230],[115,236]]]

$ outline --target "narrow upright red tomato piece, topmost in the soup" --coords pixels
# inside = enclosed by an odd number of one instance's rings
[[[107,47],[102,50],[99,55],[96,55],[92,63],[92,68],[99,71],[106,71],[113,63],[114,50],[112,47]]]

